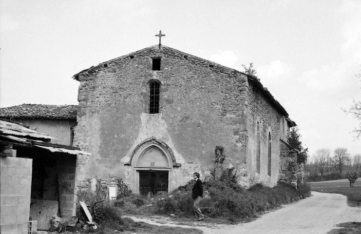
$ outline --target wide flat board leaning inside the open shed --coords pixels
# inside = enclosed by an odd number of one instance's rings
[[[57,215],[58,203],[50,200],[31,200],[30,216],[32,220],[38,220],[38,229],[48,230],[51,226],[50,219]]]

